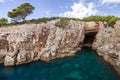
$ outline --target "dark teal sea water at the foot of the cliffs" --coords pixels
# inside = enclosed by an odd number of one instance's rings
[[[38,61],[15,67],[0,66],[0,80],[120,80],[113,67],[92,49],[74,57]]]

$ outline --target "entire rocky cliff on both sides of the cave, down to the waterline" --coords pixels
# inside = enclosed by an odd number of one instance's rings
[[[55,26],[58,21],[0,28],[0,63],[14,66],[74,56],[89,45],[120,73],[120,21],[114,28],[104,28],[103,22],[74,20],[61,28]],[[86,35],[93,32],[97,32],[90,35],[96,36],[94,42],[84,44]]]

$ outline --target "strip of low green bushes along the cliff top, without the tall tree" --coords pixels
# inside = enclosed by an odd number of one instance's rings
[[[47,21],[51,21],[55,19],[60,19],[60,21],[55,24],[58,27],[65,27],[69,23],[69,20],[80,21],[79,18],[51,17],[51,18],[38,18],[38,19],[26,20],[25,22],[22,21],[17,23],[7,23],[7,19],[2,18],[0,19],[0,26],[13,26],[13,25],[21,25],[21,24],[40,24],[40,23],[46,23]],[[83,21],[106,21],[108,23],[108,26],[111,26],[111,27],[113,27],[113,25],[117,20],[120,20],[120,18],[115,16],[90,16],[90,17],[85,17],[83,19]]]

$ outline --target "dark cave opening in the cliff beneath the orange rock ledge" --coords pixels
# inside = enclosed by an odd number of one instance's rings
[[[97,34],[97,32],[85,33],[85,39],[84,39],[83,47],[91,47],[93,41],[95,40],[96,34]]]

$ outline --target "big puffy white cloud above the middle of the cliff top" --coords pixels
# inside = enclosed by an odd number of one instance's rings
[[[86,6],[83,2],[74,3],[71,9],[71,11],[66,11],[60,14],[60,16],[82,19],[87,16],[95,15],[98,12],[98,10],[95,9],[94,3],[88,3]]]

